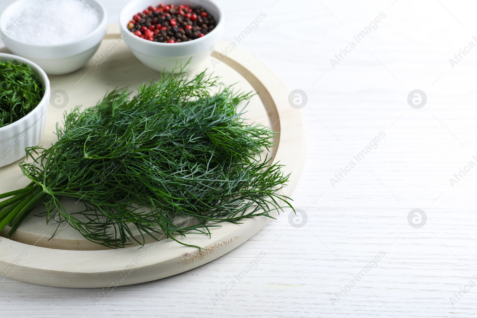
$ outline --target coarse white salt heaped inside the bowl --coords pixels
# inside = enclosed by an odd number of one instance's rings
[[[28,16],[11,37],[37,45],[57,45],[79,40],[97,28],[99,12],[80,0],[40,0],[23,9]],[[10,21],[16,21],[16,16]]]

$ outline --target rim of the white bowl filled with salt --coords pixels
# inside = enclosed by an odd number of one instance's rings
[[[29,1],[29,0],[15,0],[15,1],[11,2],[8,6],[6,6],[0,12],[0,21],[7,21],[7,18],[10,18],[10,17],[6,17],[6,14],[7,14],[6,12],[10,9],[10,7],[14,6],[18,2],[26,2],[26,1]],[[99,2],[98,0],[86,0],[86,1],[93,2],[101,10],[100,14],[102,15],[102,17],[101,18],[96,17],[99,20],[98,26],[93,31],[84,35],[80,39],[65,42],[65,43],[61,43],[61,44],[46,44],[46,45],[22,42],[22,41],[19,41],[19,40],[13,38],[13,37],[10,37],[10,36],[7,37],[7,39],[8,39],[8,41],[12,41],[16,44],[28,46],[31,49],[44,49],[44,48],[62,49],[62,48],[66,48],[66,47],[68,47],[72,44],[77,44],[79,42],[86,41],[89,37],[93,36],[93,34],[95,34],[97,32],[101,32],[102,29],[107,28],[107,25],[105,25],[105,22],[107,22],[107,13],[106,13],[106,8],[104,7],[104,5],[101,2]],[[83,1],[80,0],[80,2],[83,2]],[[2,28],[2,23],[0,23],[0,34],[4,34],[5,31],[6,30],[3,30],[3,28]],[[3,40],[3,43],[5,43],[5,40]]]

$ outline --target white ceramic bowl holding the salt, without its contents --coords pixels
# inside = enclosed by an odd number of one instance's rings
[[[13,53],[25,57],[38,64],[50,75],[67,74],[83,67],[98,49],[106,34],[106,10],[96,0],[85,0],[88,4],[100,12],[98,19],[101,22],[90,34],[79,40],[59,45],[34,45],[15,40],[9,35],[10,18],[21,17],[21,12],[34,10],[33,5],[38,0],[17,0],[11,3],[0,14],[0,43]],[[59,14],[61,14],[59,12]],[[18,24],[21,28],[21,23]]]

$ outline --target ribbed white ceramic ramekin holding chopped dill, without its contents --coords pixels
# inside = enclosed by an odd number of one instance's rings
[[[24,117],[16,122],[0,127],[0,167],[14,163],[26,155],[25,148],[40,144],[45,133],[46,111],[50,101],[50,81],[45,72],[35,63],[7,53],[0,53],[0,61],[17,61],[30,65],[33,73],[38,76],[43,98],[40,103]]]

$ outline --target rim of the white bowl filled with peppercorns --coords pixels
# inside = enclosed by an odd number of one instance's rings
[[[129,1],[127,2],[123,8],[121,8],[121,10],[119,11],[119,15],[118,15],[118,21],[119,21],[119,27],[121,28],[121,33],[124,35],[124,32],[127,32],[128,35],[127,37],[129,37],[129,35],[135,35],[133,32],[129,31],[122,23],[121,21],[121,16],[124,14],[124,11],[126,9],[127,6],[130,6],[132,5],[132,3],[135,3],[135,2],[140,2],[140,1],[146,1],[146,0],[132,0],[132,1]],[[150,2],[153,2],[154,0],[147,0],[147,1],[150,1]],[[172,0],[171,0],[172,1]],[[177,0],[175,0],[177,1]],[[138,36],[136,36],[137,40],[139,41],[142,41],[142,43],[148,43],[150,45],[155,45],[156,47],[172,47],[171,44],[174,44],[175,47],[181,47],[181,46],[187,46],[187,45],[191,45],[191,42],[194,42],[194,44],[197,44],[197,45],[200,45],[200,43],[202,42],[205,42],[209,39],[209,37],[207,37],[209,34],[216,34],[218,32],[220,32],[220,28],[219,28],[219,24],[222,23],[223,24],[223,21],[224,21],[224,11],[222,10],[222,7],[214,0],[204,0],[204,1],[207,1],[207,2],[210,2],[211,4],[213,4],[217,10],[218,10],[218,14],[219,14],[219,17],[218,17],[218,21],[217,21],[217,25],[216,27],[214,28],[214,30],[208,32],[206,35],[204,35],[203,37],[201,38],[198,38],[198,39],[194,39],[194,40],[191,40],[191,41],[187,41],[187,42],[179,42],[179,43],[163,43],[163,42],[154,42],[154,41],[149,41],[149,40],[145,40],[145,39],[142,39]],[[157,4],[157,2],[159,1],[156,1],[154,2],[154,4]],[[197,2],[197,5],[204,5],[204,2],[202,0],[187,0],[187,1],[184,1],[184,2]],[[153,4],[150,4],[150,5],[153,5]],[[206,9],[208,10],[207,6],[205,6]],[[210,10],[208,10],[210,11]],[[212,13],[213,14],[213,13]],[[216,17],[217,18],[217,17]],[[132,18],[131,18],[132,19]],[[207,38],[206,38],[207,37]],[[206,39],[204,39],[206,38]]]

